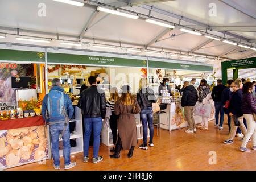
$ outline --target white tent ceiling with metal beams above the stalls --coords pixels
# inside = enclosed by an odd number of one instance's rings
[[[82,0],[76,0],[84,2]],[[40,3],[46,5],[46,16],[38,16]],[[242,42],[256,47],[256,1],[255,0],[99,0],[106,6],[114,6],[125,10],[149,15],[181,26],[195,28],[224,37],[236,42]],[[211,7],[216,5],[216,16],[209,16]],[[131,6],[129,6],[131,5]],[[220,59],[243,59],[255,57],[256,51],[238,46],[232,46],[220,41],[210,41],[204,36],[197,36],[150,24],[143,18],[129,19],[122,16],[96,12],[96,1],[85,1],[84,7],[78,7],[52,0],[0,0],[0,39],[1,43],[11,42],[31,44],[16,40],[19,35],[51,38],[51,43],[32,43],[37,46],[64,47],[60,40],[81,41],[83,49],[93,51],[109,51],[93,48],[90,44],[98,43],[118,46],[111,52],[130,53],[123,47],[154,49],[158,51],[181,53],[200,57],[218,57]],[[151,11],[149,12],[149,9]],[[181,17],[182,16],[182,17]],[[181,19],[181,20],[180,20]],[[84,31],[86,29],[86,32]],[[225,35],[224,35],[225,32]],[[58,34],[58,36],[57,36]],[[94,40],[93,40],[94,39]],[[121,47],[119,47],[121,44]],[[65,46],[65,48],[81,48]],[[152,53],[136,53],[137,55],[157,56],[172,59],[199,61],[195,57],[172,57],[167,53],[154,55]],[[220,60],[207,61],[214,64],[217,76],[221,76]],[[246,70],[248,76],[255,78],[255,70]],[[229,77],[231,77],[231,72]],[[242,74],[242,72],[241,72]]]

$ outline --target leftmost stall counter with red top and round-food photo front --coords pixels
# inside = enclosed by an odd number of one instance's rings
[[[0,121],[0,170],[48,159],[48,127],[44,119],[27,117]]]

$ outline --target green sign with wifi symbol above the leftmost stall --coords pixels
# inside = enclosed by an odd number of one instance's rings
[[[0,61],[44,62],[44,52],[0,49]]]

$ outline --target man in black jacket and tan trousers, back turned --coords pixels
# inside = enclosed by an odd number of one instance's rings
[[[196,132],[196,123],[193,117],[193,110],[198,100],[197,90],[193,85],[189,85],[188,81],[184,82],[184,88],[181,106],[184,107],[185,118],[188,121],[188,130],[185,132],[194,133]]]

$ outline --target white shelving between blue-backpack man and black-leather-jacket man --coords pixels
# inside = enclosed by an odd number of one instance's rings
[[[70,139],[76,139],[76,147],[71,147],[71,154],[77,154],[83,151],[83,136],[82,136],[82,114],[81,109],[75,106],[75,119],[70,122],[76,122],[75,133],[70,135]],[[62,143],[62,139],[60,140]],[[60,156],[63,156],[63,150],[60,150]]]

